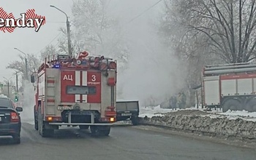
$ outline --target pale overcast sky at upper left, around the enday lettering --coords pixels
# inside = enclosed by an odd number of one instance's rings
[[[59,33],[58,28],[65,23],[65,15],[59,12],[57,9],[50,7],[50,5],[55,5],[60,9],[71,15],[71,0],[12,0],[4,1],[0,0],[0,7],[7,12],[15,16],[15,18],[20,17],[20,13],[26,12],[27,9],[35,9],[37,15],[43,15],[46,19],[46,24],[42,25],[38,32],[34,31],[34,28],[15,28],[12,33],[0,32],[1,41],[1,58],[0,58],[0,81],[3,80],[3,76],[10,79],[14,71],[7,70],[6,66],[8,63],[19,60],[18,55],[20,52],[14,49],[17,47],[21,51],[31,54],[38,54],[50,41],[56,37]],[[53,44],[56,41],[53,41]]]

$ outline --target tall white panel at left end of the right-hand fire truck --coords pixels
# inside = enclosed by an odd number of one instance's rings
[[[219,76],[204,77],[204,94],[206,105],[218,105],[219,95]]]

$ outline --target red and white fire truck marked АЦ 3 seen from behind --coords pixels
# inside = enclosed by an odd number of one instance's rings
[[[61,126],[110,134],[116,121],[116,60],[88,55],[46,57],[31,76],[37,90],[34,127],[42,137],[52,136]]]

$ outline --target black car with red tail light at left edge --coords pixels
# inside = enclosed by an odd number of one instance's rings
[[[8,97],[0,97],[0,136],[12,136],[20,144],[20,113],[23,108],[15,107]]]

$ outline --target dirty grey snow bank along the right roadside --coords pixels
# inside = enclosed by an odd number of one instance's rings
[[[197,108],[173,111],[159,107],[141,108],[141,111],[140,117],[146,116],[140,119],[141,124],[170,127],[203,135],[256,139],[256,113],[246,111],[206,112]]]

